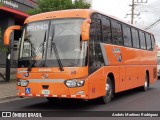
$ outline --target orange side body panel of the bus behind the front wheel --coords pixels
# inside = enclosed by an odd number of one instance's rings
[[[118,48],[122,54],[122,61],[118,62],[113,54],[113,49]],[[146,71],[150,71],[150,83],[156,80],[156,50],[146,51],[141,49],[106,45],[106,56],[108,56],[109,67],[105,67],[105,74],[109,71],[115,75],[115,92],[143,86]],[[115,70],[108,70],[115,67]],[[118,71],[116,70],[118,69]]]

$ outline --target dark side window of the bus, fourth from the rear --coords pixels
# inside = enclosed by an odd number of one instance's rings
[[[133,40],[133,47],[139,48],[139,37],[138,31],[132,28],[132,40]]]

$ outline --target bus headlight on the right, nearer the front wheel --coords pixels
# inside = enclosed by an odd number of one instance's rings
[[[64,83],[67,87],[69,88],[74,88],[74,87],[82,87],[84,85],[85,80],[66,80]]]

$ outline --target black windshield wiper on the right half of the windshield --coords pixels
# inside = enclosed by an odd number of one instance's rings
[[[57,62],[58,62],[58,64],[59,64],[59,69],[60,69],[61,71],[64,71],[63,65],[62,65],[62,62],[61,62],[61,59],[59,58],[59,54],[58,54],[58,51],[57,51],[56,44],[53,42],[53,39],[52,39],[51,45],[52,45],[52,48],[53,48],[53,50],[54,50],[54,53],[55,53],[55,57],[56,57],[56,59],[57,59]],[[51,49],[52,49],[52,48],[51,48]]]

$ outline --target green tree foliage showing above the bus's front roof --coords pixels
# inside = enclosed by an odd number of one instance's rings
[[[38,0],[38,8],[27,11],[28,14],[34,15],[43,12],[66,10],[66,9],[88,9],[91,4],[85,0]]]

